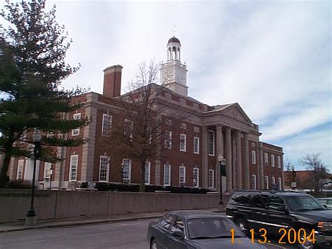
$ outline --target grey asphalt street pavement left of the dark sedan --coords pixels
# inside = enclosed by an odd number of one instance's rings
[[[148,223],[153,220],[157,219],[4,232],[0,234],[0,249],[146,249],[146,230]],[[284,248],[268,244],[265,246],[271,249]]]

